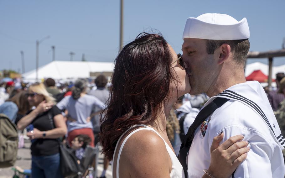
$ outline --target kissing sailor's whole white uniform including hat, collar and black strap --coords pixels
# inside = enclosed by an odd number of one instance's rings
[[[246,40],[249,37],[246,18],[237,21],[229,15],[217,13],[188,18],[183,33],[183,40]],[[220,80],[224,77],[225,82],[231,81],[225,73],[219,75]],[[178,157],[188,177],[200,178],[204,175],[203,170],[210,166],[210,146],[221,132],[224,132],[221,143],[242,134],[251,147],[246,160],[231,177],[284,177],[282,149],[285,139],[267,96],[257,81],[237,83],[211,97],[185,135]],[[226,84],[230,86],[230,83]]]

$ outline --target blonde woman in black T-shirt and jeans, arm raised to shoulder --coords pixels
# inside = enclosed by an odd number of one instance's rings
[[[29,86],[28,102],[35,109],[17,123],[19,130],[27,126],[29,129],[27,136],[32,142],[32,177],[62,177],[58,138],[66,134],[67,128],[54,101],[44,84]]]

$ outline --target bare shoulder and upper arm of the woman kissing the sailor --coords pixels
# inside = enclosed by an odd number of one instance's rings
[[[151,130],[133,134],[124,145],[120,158],[120,170],[135,177],[145,177],[145,174],[168,177],[171,164],[163,139]]]

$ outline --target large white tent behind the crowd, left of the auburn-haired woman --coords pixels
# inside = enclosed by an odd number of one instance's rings
[[[88,61],[52,61],[39,67],[38,79],[53,78],[56,80],[68,80],[76,78],[89,78],[90,72],[112,72],[112,62],[88,62]],[[36,79],[36,70],[28,71],[23,75],[24,80]]]

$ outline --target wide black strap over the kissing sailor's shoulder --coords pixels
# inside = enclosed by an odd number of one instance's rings
[[[221,107],[227,101],[229,101],[229,99],[227,98],[220,98],[220,97],[215,98],[212,102],[210,102],[198,113],[193,124],[188,129],[188,132],[185,135],[185,138],[183,140],[183,143],[181,144],[180,151],[178,154],[178,159],[183,167],[185,177],[188,177],[186,156],[189,152],[192,141],[194,139],[195,130],[203,123],[203,121],[205,121],[206,118],[208,118],[216,109]]]

